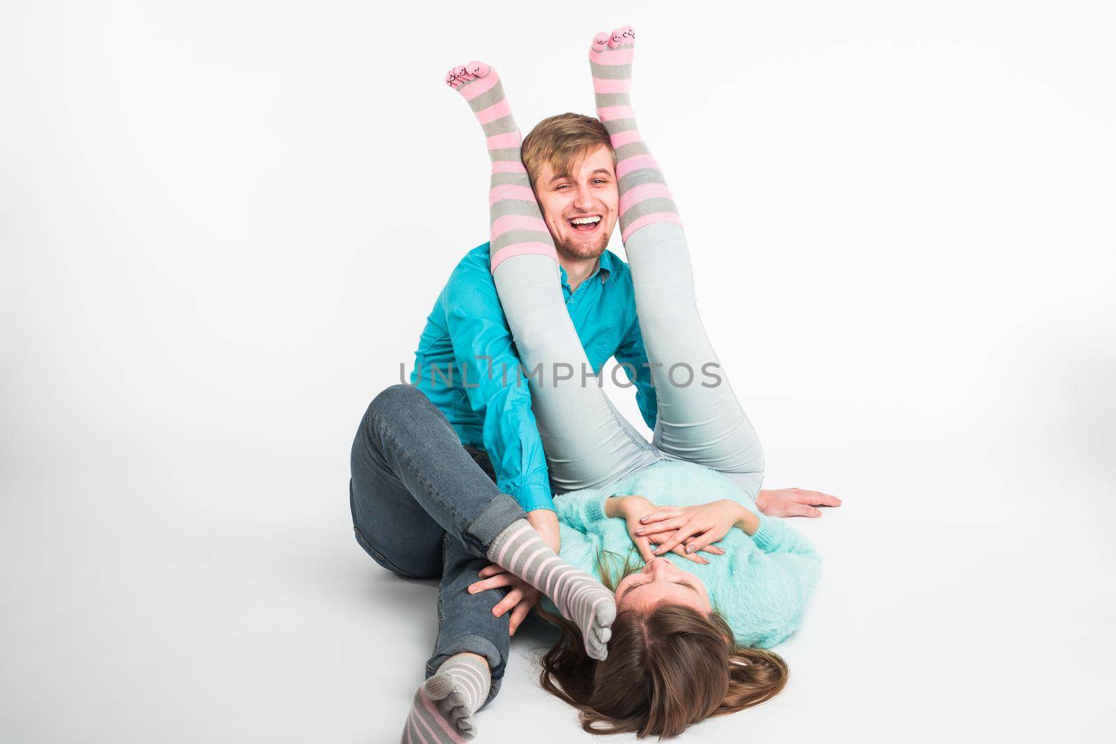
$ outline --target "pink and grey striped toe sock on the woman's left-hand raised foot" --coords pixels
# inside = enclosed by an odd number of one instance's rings
[[[549,255],[556,262],[554,239],[535,201],[527,168],[520,160],[522,137],[504,96],[500,75],[484,62],[454,67],[445,83],[462,95],[484,129],[492,178],[489,215],[492,222],[490,269],[504,259],[523,253]]]

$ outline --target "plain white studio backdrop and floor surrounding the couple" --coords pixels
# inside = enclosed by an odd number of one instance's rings
[[[631,22],[767,484],[845,500],[789,687],[684,741],[1112,741],[1107,3],[0,8],[0,740],[395,741],[434,589],[348,451],[487,240],[442,77],[591,113]],[[480,741],[587,741],[532,645]]]

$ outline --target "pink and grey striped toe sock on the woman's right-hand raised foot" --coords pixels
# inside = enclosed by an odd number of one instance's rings
[[[635,31],[631,26],[598,33],[589,49],[597,118],[608,131],[616,151],[616,177],[620,194],[620,239],[648,224],[682,224],[679,209],[666,187],[663,172],[644,144],[632,110],[632,61]]]

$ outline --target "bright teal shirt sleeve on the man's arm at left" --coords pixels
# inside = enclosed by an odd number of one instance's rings
[[[446,330],[469,404],[484,422],[497,487],[525,511],[554,510],[530,389],[487,265],[460,264],[444,292]]]

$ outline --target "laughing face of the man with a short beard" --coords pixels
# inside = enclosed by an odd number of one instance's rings
[[[573,260],[595,259],[605,252],[616,225],[619,191],[613,154],[600,145],[571,163],[569,171],[555,173],[550,163],[543,163],[535,194],[558,253]]]

